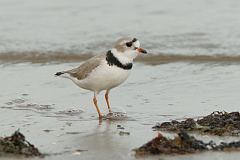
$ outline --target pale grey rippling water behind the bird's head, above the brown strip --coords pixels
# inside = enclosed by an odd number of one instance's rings
[[[0,53],[106,52],[134,36],[154,54],[240,55],[238,0],[0,0]]]

